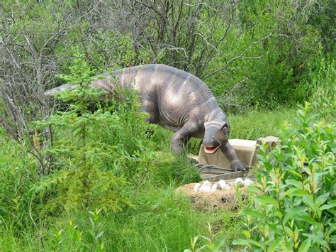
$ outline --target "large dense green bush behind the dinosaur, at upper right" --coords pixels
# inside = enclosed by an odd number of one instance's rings
[[[308,19],[323,8],[300,1],[239,1],[237,9],[240,30],[228,35],[208,66],[216,69],[248,49],[208,78],[220,103],[237,111],[305,102],[314,90],[310,70],[323,57],[320,31]]]

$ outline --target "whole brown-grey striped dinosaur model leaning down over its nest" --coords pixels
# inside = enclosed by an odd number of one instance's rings
[[[111,77],[114,76],[114,77]],[[231,169],[245,170],[230,143],[230,124],[211,90],[194,75],[166,65],[140,65],[104,74],[103,80],[91,82],[113,96],[116,87],[137,90],[142,111],[149,114],[148,121],[174,131],[172,152],[184,154],[189,138],[203,138],[206,153],[222,151],[230,161]],[[45,92],[46,95],[73,89],[65,84]]]

